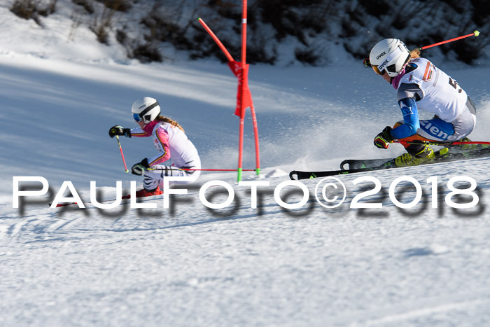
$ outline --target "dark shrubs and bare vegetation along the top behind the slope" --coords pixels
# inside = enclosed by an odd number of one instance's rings
[[[239,60],[241,1],[239,0],[71,0],[73,26],[87,25],[97,40],[118,42],[127,57],[141,62],[163,61],[162,48],[183,50],[191,59],[225,56],[197,22],[202,17],[230,53]],[[475,29],[488,34],[486,0],[249,0],[247,62],[274,64],[283,43],[293,44],[295,60],[328,64],[329,51],[342,46],[353,57],[365,57],[387,37],[407,46],[426,46]],[[10,11],[43,26],[57,10],[57,0],[13,0]],[[437,19],[436,19],[437,18]],[[73,34],[71,32],[71,34]],[[470,38],[440,46],[440,51],[473,64],[489,38]]]

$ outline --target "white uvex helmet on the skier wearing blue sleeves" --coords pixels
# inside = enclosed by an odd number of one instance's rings
[[[405,43],[398,39],[384,39],[371,49],[369,61],[376,74],[395,77],[403,69],[410,58],[410,51]]]

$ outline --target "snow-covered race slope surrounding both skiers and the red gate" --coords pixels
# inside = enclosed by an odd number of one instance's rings
[[[372,146],[400,113],[393,88],[358,62],[251,67],[262,175],[244,179],[270,183],[259,188],[257,209],[234,173],[203,173],[169,209],[162,196],[144,200],[157,209],[49,209],[46,198],[13,209],[13,176],[43,176],[54,193],[72,181],[84,200],[90,181],[109,199],[116,181],[126,189],[140,183],[125,174],[107,131],[135,127],[130,106],[145,95],[183,125],[204,168],[235,168],[237,83],[215,61],[143,65],[82,28],[75,43],[68,29],[41,29],[5,6],[0,13],[1,326],[488,326],[490,160],[339,176],[347,194],[335,209],[314,197],[290,211],[274,201],[291,169],[402,153]],[[57,26],[69,26],[57,15]],[[479,122],[471,138],[488,141],[490,69],[435,64],[472,96]],[[128,165],[154,151],[148,139],[121,143]],[[244,167],[253,169],[249,116],[245,149]],[[412,209],[383,195],[402,175],[423,188]],[[354,185],[360,176],[381,181],[383,192],[361,200],[381,209],[349,207],[373,187]],[[426,182],[433,176],[437,208]],[[444,202],[454,176],[475,179],[477,207]],[[230,207],[200,202],[200,185],[212,179],[234,188]],[[311,195],[316,183],[304,181]],[[283,199],[299,202],[290,190],[297,188],[283,190]],[[211,188],[208,196],[223,202],[223,192]],[[413,186],[397,188],[402,202],[414,196]]]

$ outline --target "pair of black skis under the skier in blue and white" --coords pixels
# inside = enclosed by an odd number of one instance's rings
[[[431,165],[440,162],[451,162],[458,160],[469,160],[477,158],[490,157],[490,148],[480,148],[475,151],[462,153],[450,153],[447,150],[441,149],[435,152],[434,160],[421,165]],[[381,162],[381,164],[380,164]],[[348,165],[346,167],[346,165]],[[416,167],[416,166],[413,166]],[[395,159],[368,159],[368,160],[344,160],[340,164],[339,170],[326,170],[321,172],[302,172],[293,170],[289,173],[289,178],[293,180],[299,179],[314,179],[317,177],[335,176],[343,174],[355,174],[358,172],[372,172],[375,170],[399,168],[395,165]]]

